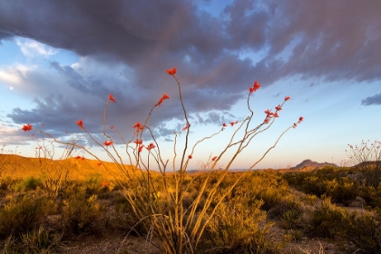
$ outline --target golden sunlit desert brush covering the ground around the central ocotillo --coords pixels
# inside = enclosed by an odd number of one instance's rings
[[[125,198],[129,194],[122,185],[126,183],[97,171],[93,166],[96,161],[46,160],[41,163],[38,158],[9,155],[0,158],[2,253],[70,253],[71,244],[83,234],[102,238],[110,231],[123,237],[150,239],[151,244],[162,249],[160,240],[152,238],[151,220],[142,220],[133,211],[145,210],[147,204],[136,201],[140,207],[133,208]],[[10,158],[13,161],[9,161]],[[9,165],[24,161],[28,161],[30,171],[6,174],[15,170],[8,168]],[[72,174],[52,188],[45,182],[49,180],[44,177],[44,169],[49,167],[52,173],[61,171],[63,163],[68,171],[80,167],[87,178],[83,178],[82,173]],[[187,189],[182,193],[183,209],[189,209],[200,199],[194,213],[200,216],[204,202],[213,191],[212,183],[219,181],[222,173],[224,171],[185,174]],[[210,204],[206,213],[214,211],[214,216],[210,217],[197,248],[192,251],[313,253],[318,247],[304,246],[319,239],[320,251],[324,252],[321,247],[325,245],[334,251],[327,253],[379,253],[381,184],[376,188],[367,185],[360,181],[363,175],[361,168],[332,167],[313,171],[228,172],[220,182],[220,193],[230,190],[239,178],[240,183],[232,188],[217,210],[216,203]],[[161,178],[160,174],[151,177]],[[207,178],[210,186],[202,187]],[[162,190],[161,186],[154,187],[151,201],[158,209],[170,210],[165,195],[170,195],[171,190]],[[205,190],[200,197],[202,188]],[[135,195],[145,193],[142,188],[142,192]],[[359,197],[362,207],[354,207]],[[157,223],[165,220],[158,215]],[[208,220],[208,216],[204,220]]]

